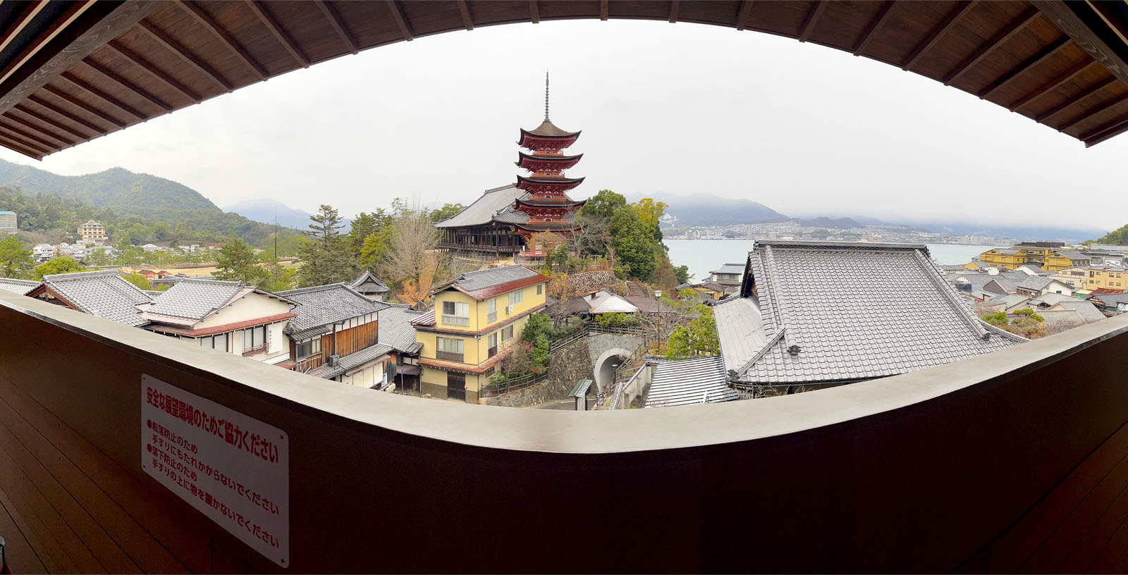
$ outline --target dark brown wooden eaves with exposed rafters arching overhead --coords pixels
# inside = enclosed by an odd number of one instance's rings
[[[0,145],[39,159],[361,50],[477,26],[576,18],[711,24],[821,44],[926,76],[1093,145],[1128,131],[1126,6],[1121,0],[3,2]]]

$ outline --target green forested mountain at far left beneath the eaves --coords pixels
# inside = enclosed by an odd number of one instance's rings
[[[170,179],[109,168],[97,174],[60,176],[46,170],[0,160],[0,185],[28,194],[54,194],[97,207],[109,207],[121,216],[162,219],[167,212],[219,210],[195,189]]]

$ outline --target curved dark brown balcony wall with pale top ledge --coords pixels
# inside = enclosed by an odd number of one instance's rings
[[[0,292],[0,487],[9,494],[0,518],[28,525],[27,542],[14,546],[25,551],[9,549],[8,560],[21,561],[14,572],[456,570],[470,556],[477,570],[1111,572],[1128,516],[1118,498],[1128,486],[1128,386],[1116,361],[1126,353],[1121,316],[794,396],[580,414],[310,384]],[[281,431],[287,529],[270,534],[289,548],[287,567],[142,468],[153,458],[138,444],[148,432],[138,418],[143,375]],[[238,466],[224,472],[241,474]],[[372,478],[394,485],[395,497],[356,488]],[[576,485],[600,486],[600,513],[538,495]],[[788,495],[734,496],[749,485],[784,485]],[[455,504],[482,494],[504,497],[485,514]],[[681,494],[691,501],[677,504]],[[504,532],[506,545],[372,538],[372,508],[404,533],[458,524]],[[528,529],[553,516],[570,520]],[[747,533],[750,520],[772,529],[739,546],[710,543]],[[645,552],[561,554],[576,532],[629,534]],[[201,550],[208,541],[217,545]]]

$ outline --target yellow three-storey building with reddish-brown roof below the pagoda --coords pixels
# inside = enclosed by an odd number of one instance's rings
[[[545,307],[548,278],[523,266],[469,272],[438,286],[434,310],[412,320],[423,344],[420,390],[438,399],[478,402],[494,365],[521,339],[529,316]]]

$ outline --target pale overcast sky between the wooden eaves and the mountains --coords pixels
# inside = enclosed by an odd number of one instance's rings
[[[654,21],[479,27],[316,64],[59,152],[227,206],[275,197],[344,215],[406,196],[468,204],[515,180],[518,129],[582,130],[574,193],[707,192],[787,215],[1128,221],[1128,134],[1085,149],[888,64],[754,32]],[[1117,169],[1117,167],[1121,167]],[[1085,201],[1086,197],[1099,201]]]

